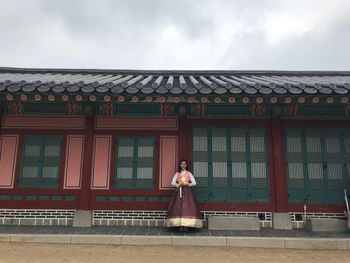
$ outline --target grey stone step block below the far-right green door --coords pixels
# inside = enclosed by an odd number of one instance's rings
[[[347,220],[336,218],[309,218],[306,220],[306,229],[322,232],[345,232],[348,230]]]

